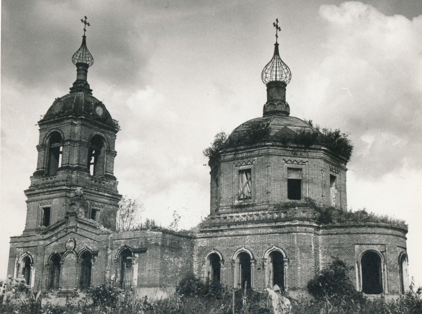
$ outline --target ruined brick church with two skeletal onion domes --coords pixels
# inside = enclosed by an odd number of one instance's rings
[[[310,198],[346,210],[348,158],[324,145],[283,140],[319,130],[290,116],[285,91],[291,73],[277,40],[262,71],[263,116],[238,126],[227,141],[262,129],[265,136],[223,145],[210,158],[210,216],[191,235],[116,231],[119,126],[87,82],[93,58],[85,29],[72,62],[77,75],[70,92],[56,98],[38,122],[37,168],[25,190],[26,226],[10,240],[8,276],[53,292],[113,282],[139,295],[162,295],[193,271],[229,288],[278,284],[297,295],[339,257],[359,291],[398,295],[407,289],[405,227],[321,224],[314,209],[297,205]]]

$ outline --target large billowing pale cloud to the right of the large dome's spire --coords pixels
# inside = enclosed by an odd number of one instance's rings
[[[422,153],[417,136],[422,15],[413,20],[385,16],[361,2],[322,5],[319,13],[326,24],[322,46],[328,57],[306,79],[305,94],[319,95],[310,98],[327,125],[351,133],[355,149],[349,168],[374,178],[405,162],[416,167]],[[321,112],[334,114],[329,121]]]

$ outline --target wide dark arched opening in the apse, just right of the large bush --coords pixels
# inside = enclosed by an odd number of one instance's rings
[[[380,294],[382,287],[381,257],[374,251],[367,251],[361,258],[362,292],[366,294]]]

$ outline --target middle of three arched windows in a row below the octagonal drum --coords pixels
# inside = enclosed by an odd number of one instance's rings
[[[242,247],[233,255],[234,262],[234,286],[235,288],[250,288],[252,286],[252,262],[254,261],[251,251]]]

